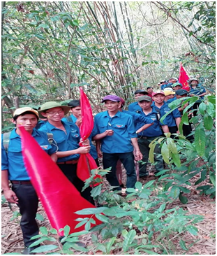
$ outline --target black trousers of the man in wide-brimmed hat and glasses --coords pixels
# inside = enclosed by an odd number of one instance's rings
[[[57,163],[58,164],[58,163]],[[77,164],[58,164],[59,169],[65,174],[65,176],[70,180],[71,183],[77,188],[87,201],[94,205],[93,197],[91,197],[91,187],[87,187],[82,192],[82,187],[84,187],[84,182],[77,177]]]

